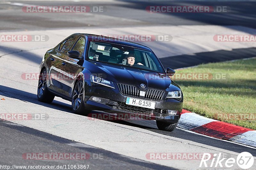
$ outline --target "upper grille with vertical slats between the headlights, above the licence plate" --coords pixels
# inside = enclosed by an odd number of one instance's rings
[[[165,95],[165,91],[156,90],[156,89],[148,89],[145,92],[145,96],[140,96],[140,91],[136,86],[133,85],[125,85],[117,83],[119,91],[128,96],[135,96],[140,97],[144,99],[150,99],[150,100],[162,100]]]

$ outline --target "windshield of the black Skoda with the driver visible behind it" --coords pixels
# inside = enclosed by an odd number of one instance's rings
[[[152,52],[120,44],[91,41],[88,58],[91,61],[120,64],[164,73],[160,62]]]

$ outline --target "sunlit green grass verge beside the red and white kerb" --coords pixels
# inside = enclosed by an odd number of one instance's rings
[[[177,76],[182,78],[186,75],[183,73],[209,73],[210,76],[207,80],[178,79]],[[221,74],[222,78],[219,79]],[[175,76],[174,81],[180,85],[184,95],[184,109],[256,130],[255,58],[202,64],[177,70]]]

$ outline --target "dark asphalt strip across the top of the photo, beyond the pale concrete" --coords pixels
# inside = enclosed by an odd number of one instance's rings
[[[0,2],[0,30],[44,30],[67,27],[122,27],[145,25],[223,25],[255,28],[256,2],[52,2],[2,1]],[[11,3],[11,4],[10,4]],[[16,4],[15,4],[16,3]],[[21,4],[17,4],[21,3]],[[101,6],[103,12],[88,13],[27,13],[21,7],[41,6]],[[149,13],[148,6],[224,6],[227,12],[211,13]]]

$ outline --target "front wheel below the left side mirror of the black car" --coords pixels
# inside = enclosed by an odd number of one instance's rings
[[[84,107],[84,84],[82,80],[78,80],[72,92],[72,110],[73,113],[79,115],[88,115],[91,110]]]

